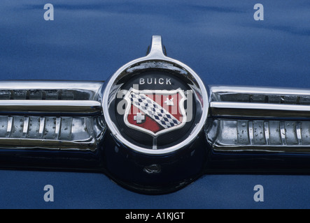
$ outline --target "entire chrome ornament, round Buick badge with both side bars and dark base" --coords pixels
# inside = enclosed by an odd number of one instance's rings
[[[107,82],[0,82],[0,165],[102,172],[162,194],[203,174],[309,173],[310,91],[209,86],[166,56]]]

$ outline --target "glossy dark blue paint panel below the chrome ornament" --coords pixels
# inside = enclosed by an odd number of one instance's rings
[[[207,175],[183,190],[142,195],[115,185],[103,174],[0,171],[1,208],[310,208],[310,176]],[[45,184],[55,201],[43,200]],[[254,185],[265,201],[253,201]]]

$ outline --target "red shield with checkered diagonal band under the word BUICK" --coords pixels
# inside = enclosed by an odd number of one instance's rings
[[[125,95],[125,100],[127,100],[125,124],[153,137],[182,128],[186,123],[184,109],[186,97],[181,89],[174,91],[130,89]]]

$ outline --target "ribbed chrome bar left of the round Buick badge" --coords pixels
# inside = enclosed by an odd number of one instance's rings
[[[103,82],[0,82],[0,151],[96,151]]]

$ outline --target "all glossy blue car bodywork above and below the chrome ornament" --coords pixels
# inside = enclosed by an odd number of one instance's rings
[[[52,3],[55,20],[43,20]],[[253,20],[262,3],[265,20]],[[206,84],[310,88],[309,1],[16,1],[0,3],[0,79],[107,79],[162,35],[168,56]],[[310,176],[204,176],[146,196],[101,174],[0,171],[0,208],[309,208]],[[55,186],[55,202],[43,187]],[[265,202],[253,201],[253,187]]]

